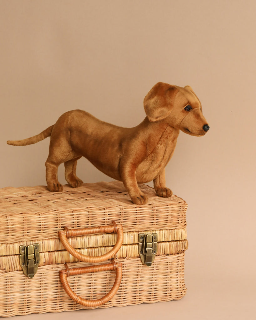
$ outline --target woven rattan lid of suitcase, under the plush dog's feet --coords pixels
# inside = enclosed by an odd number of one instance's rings
[[[153,188],[139,187],[148,196],[143,206],[132,204],[119,181],[65,185],[55,193],[45,186],[0,189],[0,243],[58,238],[61,228],[97,227],[112,220],[124,232],[186,226],[184,200],[158,197]]]

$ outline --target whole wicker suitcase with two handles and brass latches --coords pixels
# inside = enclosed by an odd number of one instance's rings
[[[0,316],[182,298],[187,204],[140,188],[0,189]]]

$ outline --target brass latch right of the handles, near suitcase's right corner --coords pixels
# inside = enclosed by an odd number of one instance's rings
[[[139,234],[139,254],[143,264],[151,266],[157,252],[157,233]]]

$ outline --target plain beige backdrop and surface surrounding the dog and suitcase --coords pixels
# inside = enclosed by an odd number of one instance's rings
[[[49,138],[6,140],[76,108],[135,126],[158,81],[191,85],[210,125],[203,138],[181,132],[166,167],[188,202],[187,295],[22,319],[255,319],[255,13],[254,0],[0,1],[1,188],[45,185]],[[111,180],[85,159],[78,176]]]

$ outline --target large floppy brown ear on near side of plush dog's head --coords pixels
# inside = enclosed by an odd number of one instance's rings
[[[167,83],[155,84],[144,98],[144,109],[148,120],[154,122],[169,116],[178,91],[177,87]]]

